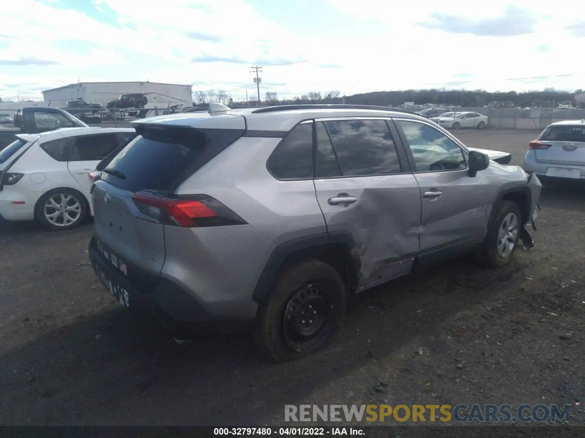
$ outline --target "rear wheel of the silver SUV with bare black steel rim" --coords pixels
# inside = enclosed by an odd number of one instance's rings
[[[322,296],[317,296],[319,292],[315,290],[318,291],[319,288],[326,291],[321,293],[325,294],[326,300],[323,300]],[[294,312],[292,308],[295,299],[304,296],[305,291],[308,291],[308,296],[310,294],[314,296],[302,301],[301,305],[306,308],[307,303],[318,304],[315,308],[321,307],[324,310],[324,323],[314,333],[312,340],[311,336],[302,338],[308,340],[306,348],[298,343],[296,347],[292,347],[290,327],[294,325],[294,321],[300,321],[298,315],[301,312],[300,307]],[[320,299],[325,304],[319,304]],[[269,296],[261,305],[254,333],[256,345],[269,359],[277,362],[305,356],[321,349],[335,338],[343,322],[345,307],[345,285],[331,265],[316,259],[307,259],[291,265],[280,273]],[[291,315],[291,319],[286,315]],[[304,319],[302,321],[304,322]],[[298,333],[294,334],[300,336]]]

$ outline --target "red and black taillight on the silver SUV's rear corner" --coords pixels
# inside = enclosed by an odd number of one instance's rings
[[[228,207],[205,194],[170,197],[137,192],[132,199],[141,213],[164,225],[218,227],[246,224]]]

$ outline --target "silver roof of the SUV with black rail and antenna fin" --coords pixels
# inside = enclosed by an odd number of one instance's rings
[[[166,124],[184,127],[242,128],[248,131],[290,131],[303,120],[328,117],[403,117],[428,121],[414,112],[365,105],[281,105],[262,108],[229,109],[215,104],[211,112],[175,113],[132,121],[132,125]]]

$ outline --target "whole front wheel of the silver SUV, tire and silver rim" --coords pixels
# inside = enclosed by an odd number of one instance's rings
[[[510,263],[518,244],[522,227],[522,215],[517,204],[502,201],[494,223],[488,231],[484,247],[477,252],[477,259],[491,267]]]

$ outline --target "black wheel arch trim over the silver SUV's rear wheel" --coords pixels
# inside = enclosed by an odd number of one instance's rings
[[[270,287],[274,284],[274,281],[276,281],[278,271],[281,269],[283,263],[289,256],[303,250],[329,244],[344,244],[347,246],[351,260],[351,273],[355,274],[357,279],[357,273],[359,273],[362,267],[362,262],[359,254],[357,253],[356,242],[349,232],[336,231],[331,233],[322,232],[319,234],[307,235],[283,242],[274,248],[274,251],[271,253],[268,261],[266,262],[266,265],[264,265],[264,269],[262,270],[260,278],[256,283],[256,287],[254,288],[254,292],[252,294],[254,301],[260,303],[266,299],[270,293]]]

